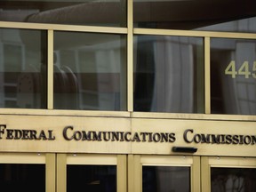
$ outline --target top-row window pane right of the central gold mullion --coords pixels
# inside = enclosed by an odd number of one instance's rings
[[[255,32],[255,6],[240,0],[134,0],[134,27]]]

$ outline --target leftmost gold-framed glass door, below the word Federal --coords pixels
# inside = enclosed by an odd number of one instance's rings
[[[54,192],[54,167],[54,154],[1,153],[1,191]]]

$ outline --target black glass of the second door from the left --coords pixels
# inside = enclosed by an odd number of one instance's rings
[[[67,165],[67,192],[115,192],[116,165]]]

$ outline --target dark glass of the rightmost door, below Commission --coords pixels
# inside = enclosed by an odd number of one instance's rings
[[[212,192],[256,191],[256,169],[211,168]]]

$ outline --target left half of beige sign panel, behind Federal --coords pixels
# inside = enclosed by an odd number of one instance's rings
[[[131,144],[124,141],[105,140],[65,140],[63,129],[73,126],[68,130],[68,137],[75,131],[78,132],[129,132],[129,118],[111,117],[74,117],[74,116],[0,116],[0,150],[19,152],[71,152],[71,153],[130,153]],[[3,124],[6,125],[4,129]],[[36,136],[44,130],[46,137],[52,131],[55,140],[15,140],[6,139],[8,130],[33,130]],[[4,133],[3,133],[4,131]],[[31,132],[28,133],[28,135]],[[12,132],[15,137],[15,132]]]

